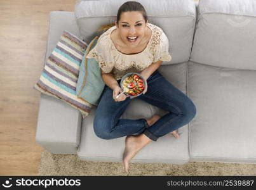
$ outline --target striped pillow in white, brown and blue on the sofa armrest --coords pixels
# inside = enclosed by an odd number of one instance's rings
[[[34,89],[61,99],[81,111],[83,118],[90,113],[91,104],[77,98],[76,85],[86,47],[85,42],[64,31],[34,85]]]

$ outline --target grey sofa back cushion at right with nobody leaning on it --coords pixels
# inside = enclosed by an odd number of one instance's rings
[[[256,70],[256,1],[200,0],[191,60]]]

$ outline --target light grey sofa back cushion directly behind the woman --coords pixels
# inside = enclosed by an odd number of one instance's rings
[[[75,15],[83,40],[89,43],[97,29],[116,21],[123,0],[77,1]],[[193,0],[138,0],[147,11],[150,23],[163,29],[169,39],[172,60],[163,64],[182,63],[189,60],[196,23]]]

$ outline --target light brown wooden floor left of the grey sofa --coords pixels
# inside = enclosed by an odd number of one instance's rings
[[[38,175],[35,141],[50,11],[76,0],[0,0],[0,175]]]

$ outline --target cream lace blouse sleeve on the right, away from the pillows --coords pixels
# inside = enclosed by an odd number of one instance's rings
[[[164,32],[162,32],[159,41],[160,42],[156,49],[156,56],[154,58],[154,62],[158,60],[171,61],[172,56],[169,53],[169,41]]]

